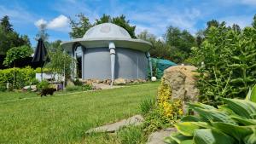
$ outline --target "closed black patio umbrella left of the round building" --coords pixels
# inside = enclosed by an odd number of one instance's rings
[[[32,62],[38,63],[41,66],[41,80],[43,80],[43,66],[44,63],[49,60],[47,56],[47,49],[44,46],[44,40],[42,38],[38,39],[38,45],[35,50]]]

